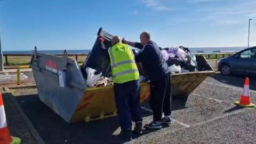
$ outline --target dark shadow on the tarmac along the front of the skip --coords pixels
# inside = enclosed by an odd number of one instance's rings
[[[33,123],[45,143],[123,143],[120,138],[118,117],[106,118],[90,123],[68,124],[47,107],[37,94],[16,97],[19,105]],[[186,108],[187,98],[173,99],[173,110]],[[143,117],[152,115],[148,102],[142,103]],[[143,134],[152,131],[144,131]],[[138,138],[140,135],[133,135]]]

